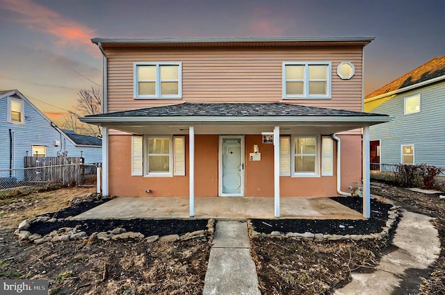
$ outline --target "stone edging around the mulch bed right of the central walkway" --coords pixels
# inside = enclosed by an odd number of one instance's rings
[[[396,221],[400,215],[398,210],[400,207],[392,206],[388,210],[388,220],[385,226],[382,227],[382,231],[380,233],[371,233],[369,235],[326,235],[323,233],[280,233],[279,231],[273,231],[270,234],[266,233],[258,233],[254,230],[254,226],[252,221],[248,220],[248,228],[250,237],[291,237],[293,239],[327,239],[330,241],[335,241],[339,239],[353,239],[356,241],[362,241],[366,239],[383,239],[384,237],[389,237],[389,231],[396,225]]]

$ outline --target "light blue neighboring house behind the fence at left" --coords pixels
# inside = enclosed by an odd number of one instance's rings
[[[18,90],[0,91],[0,177],[16,177],[24,157],[67,155],[102,162],[102,140],[61,130]]]

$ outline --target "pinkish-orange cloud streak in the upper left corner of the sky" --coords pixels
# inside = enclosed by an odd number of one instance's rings
[[[26,24],[32,31],[39,31],[57,38],[56,44],[78,48],[83,44],[90,53],[95,54],[94,45],[90,42],[95,30],[68,19],[58,12],[46,8],[32,0],[1,0],[0,8],[15,12],[10,17],[13,22]]]

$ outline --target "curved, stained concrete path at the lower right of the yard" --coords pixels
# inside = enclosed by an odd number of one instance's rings
[[[348,285],[334,294],[417,294],[421,276],[440,253],[440,240],[431,217],[402,210],[392,247],[371,273],[352,273]]]

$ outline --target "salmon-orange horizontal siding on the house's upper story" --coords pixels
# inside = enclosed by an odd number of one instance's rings
[[[108,112],[188,102],[298,103],[362,110],[362,48],[108,49]],[[331,99],[282,99],[282,62],[332,62]],[[181,99],[134,99],[133,62],[182,62]],[[353,62],[355,76],[341,80],[337,65]]]

